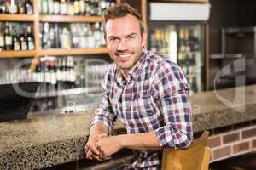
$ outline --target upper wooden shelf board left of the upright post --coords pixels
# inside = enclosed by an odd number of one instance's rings
[[[5,21],[34,21],[33,14],[0,14],[0,20]]]

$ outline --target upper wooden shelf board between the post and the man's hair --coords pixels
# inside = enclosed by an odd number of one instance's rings
[[[41,14],[39,20],[43,22],[102,22],[101,16],[70,16],[57,14]]]

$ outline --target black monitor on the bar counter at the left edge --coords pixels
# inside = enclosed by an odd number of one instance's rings
[[[38,90],[38,82],[0,85],[0,122],[25,119]]]

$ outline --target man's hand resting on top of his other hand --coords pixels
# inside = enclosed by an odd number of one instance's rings
[[[122,149],[119,136],[108,136],[98,139],[96,148],[100,150],[100,159],[108,159],[114,153]]]

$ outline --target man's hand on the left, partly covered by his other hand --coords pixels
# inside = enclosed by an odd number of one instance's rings
[[[84,150],[86,153],[87,159],[96,159],[98,161],[102,161],[100,158],[101,152],[97,149],[96,143],[99,141],[99,139],[107,137],[108,135],[106,133],[100,134],[100,135],[92,135],[89,137],[87,143],[85,144]]]

